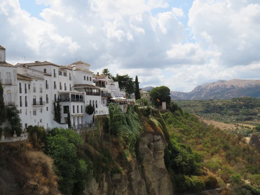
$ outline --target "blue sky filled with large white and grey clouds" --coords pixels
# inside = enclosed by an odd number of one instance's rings
[[[259,0],[0,0],[0,24],[13,65],[80,59],[183,92],[260,79]]]

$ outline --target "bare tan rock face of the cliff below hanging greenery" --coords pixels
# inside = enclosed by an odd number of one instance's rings
[[[137,148],[142,162],[138,163],[136,157],[133,157],[131,168],[124,169],[121,174],[103,174],[100,182],[93,178],[86,187],[85,194],[173,194],[169,173],[164,165],[165,147],[166,143],[161,135],[144,133]]]

